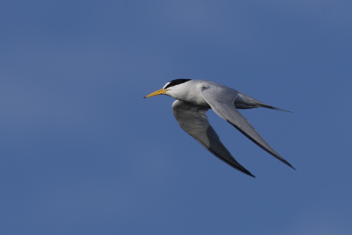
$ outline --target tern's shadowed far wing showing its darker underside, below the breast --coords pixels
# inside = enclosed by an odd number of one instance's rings
[[[172,112],[174,112],[178,124],[185,132],[228,165],[253,176],[232,157],[231,153],[221,143],[218,134],[210,126],[206,115],[207,111],[208,108],[195,106],[194,104],[180,100],[172,103]]]

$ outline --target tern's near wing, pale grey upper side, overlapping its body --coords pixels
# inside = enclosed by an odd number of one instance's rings
[[[225,119],[232,126],[238,129],[242,134],[263,148],[283,163],[295,169],[283,157],[281,157],[270,145],[259,135],[249,121],[235,108],[234,100],[238,93],[227,87],[216,87],[206,85],[201,90],[204,100],[212,107],[214,112],[221,118]],[[296,169],[295,169],[296,170]]]

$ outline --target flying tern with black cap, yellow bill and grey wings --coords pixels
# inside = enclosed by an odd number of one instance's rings
[[[296,170],[270,147],[238,109],[264,107],[284,112],[290,111],[270,106],[240,91],[206,80],[172,80],[166,83],[162,89],[154,91],[144,98],[162,94],[176,99],[172,103],[172,112],[180,127],[209,152],[235,169],[255,177],[241,166],[222,144],[219,135],[210,125],[206,115],[209,109],[213,109],[222,119],[238,129],[263,150]]]

